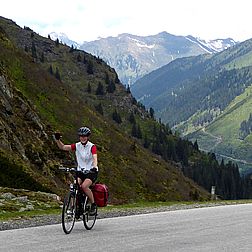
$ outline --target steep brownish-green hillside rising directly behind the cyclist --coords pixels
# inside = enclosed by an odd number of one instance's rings
[[[62,195],[68,178],[57,167],[73,165],[74,159],[56,148],[51,134],[59,130],[71,143],[76,130],[88,125],[98,147],[100,180],[109,186],[112,203],[208,197],[173,161],[128,134],[130,114],[141,127],[159,126],[102,60],[5,18],[0,18],[0,46],[1,185]],[[121,123],[112,117],[115,108]]]

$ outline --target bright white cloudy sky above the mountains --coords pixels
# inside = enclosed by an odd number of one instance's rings
[[[251,0],[0,0],[0,16],[78,43],[166,31],[205,40],[252,38]]]

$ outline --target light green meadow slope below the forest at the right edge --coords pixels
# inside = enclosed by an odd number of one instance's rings
[[[192,134],[190,140],[197,139],[200,149],[213,151],[217,154],[226,155],[231,158],[246,160],[249,164],[238,163],[240,172],[246,172],[251,168],[252,136],[239,139],[240,124],[248,120],[252,107],[252,86],[237,96],[229,106],[205,128],[205,132],[198,131]],[[216,138],[215,138],[215,137]],[[221,138],[218,141],[217,138]]]

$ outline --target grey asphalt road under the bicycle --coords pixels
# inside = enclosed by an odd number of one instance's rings
[[[0,232],[0,251],[252,251],[252,204],[98,219]]]

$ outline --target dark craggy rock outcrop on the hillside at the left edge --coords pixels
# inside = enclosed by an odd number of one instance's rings
[[[44,126],[29,101],[13,88],[2,67],[0,71],[0,149],[14,152],[23,160],[38,163],[34,145],[48,139]]]

